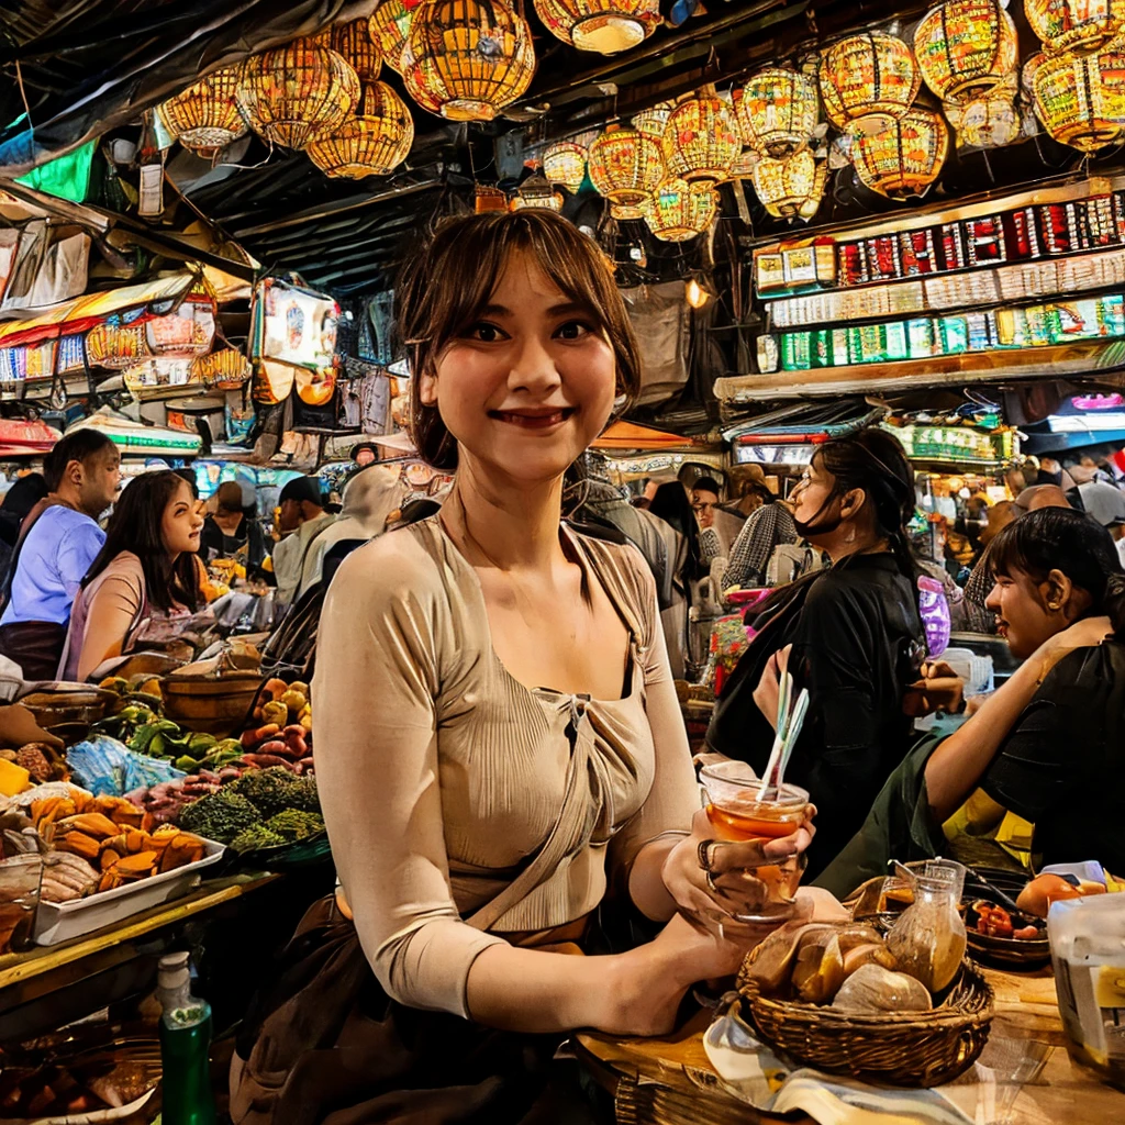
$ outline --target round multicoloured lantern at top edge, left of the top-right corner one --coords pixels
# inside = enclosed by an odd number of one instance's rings
[[[948,0],[915,30],[915,58],[943,101],[972,100],[1019,64],[1016,25],[999,0]]]

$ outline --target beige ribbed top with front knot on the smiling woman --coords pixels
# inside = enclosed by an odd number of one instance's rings
[[[699,808],[652,577],[631,547],[562,534],[629,626],[623,699],[514,680],[492,648],[476,573],[436,516],[356,551],[325,602],[313,684],[321,801],[367,957],[413,1007],[467,1015],[482,951],[583,917],[608,864],[686,830]],[[550,834],[574,737],[590,740],[590,765],[570,857],[482,933],[461,918]]]

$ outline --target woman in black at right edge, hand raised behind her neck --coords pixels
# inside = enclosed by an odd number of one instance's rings
[[[819,885],[846,894],[886,861],[953,855],[1037,871],[1125,870],[1125,572],[1109,532],[1041,508],[989,552],[988,606],[1024,663],[957,731],[921,739]]]

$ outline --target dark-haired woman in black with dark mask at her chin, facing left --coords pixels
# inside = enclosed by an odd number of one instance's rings
[[[786,780],[817,802],[814,874],[863,824],[908,748],[902,700],[925,655],[907,538],[914,471],[891,434],[863,430],[817,450],[792,502],[798,533],[832,565],[763,605],[706,740],[709,750],[765,767],[774,732],[754,692],[791,645],[790,670],[810,701]]]

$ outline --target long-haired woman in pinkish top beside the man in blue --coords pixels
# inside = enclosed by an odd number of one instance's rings
[[[176,472],[146,472],[128,485],[74,600],[60,678],[84,681],[128,652],[155,615],[195,612],[202,525],[191,486]]]

